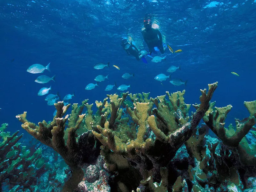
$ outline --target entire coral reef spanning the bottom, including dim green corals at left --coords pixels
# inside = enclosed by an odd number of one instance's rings
[[[32,153],[18,143],[22,135],[4,132],[3,124],[2,190],[256,191],[256,101],[244,102],[250,116],[227,127],[232,106],[217,108],[210,101],[217,84],[201,90],[191,115],[185,91],[156,98],[107,95],[95,102],[96,113],[84,100],[67,115],[70,104],[61,101],[54,104],[53,120],[38,124],[29,122],[26,112],[17,115],[22,128],[50,148]]]

